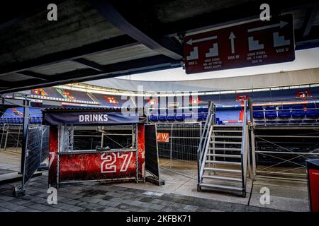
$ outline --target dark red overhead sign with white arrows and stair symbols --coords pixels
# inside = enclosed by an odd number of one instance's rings
[[[275,64],[295,59],[291,14],[184,37],[186,73]]]

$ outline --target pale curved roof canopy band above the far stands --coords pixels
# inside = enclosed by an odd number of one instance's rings
[[[319,83],[319,68],[250,76],[198,79],[196,81],[134,81],[109,78],[86,82],[89,85],[105,88],[149,93],[245,90],[315,83]]]

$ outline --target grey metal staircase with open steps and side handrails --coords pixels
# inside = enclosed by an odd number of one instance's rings
[[[246,104],[245,104],[246,106]],[[207,121],[198,148],[198,191],[210,189],[246,196],[249,139],[247,107],[242,126]]]

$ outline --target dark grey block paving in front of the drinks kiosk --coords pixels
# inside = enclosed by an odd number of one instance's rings
[[[26,196],[12,196],[13,186],[0,186],[0,211],[274,211],[270,208],[207,198],[164,194],[132,189],[116,184],[64,184],[57,192],[57,204],[47,203],[47,173],[31,179]]]

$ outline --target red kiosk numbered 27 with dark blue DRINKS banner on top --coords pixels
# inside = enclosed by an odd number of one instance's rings
[[[44,109],[43,124],[50,126],[49,184],[69,182],[144,181],[145,117],[142,109]],[[130,125],[131,143],[126,148],[96,145],[93,150],[74,150],[74,126]]]

